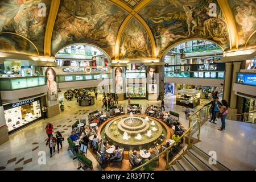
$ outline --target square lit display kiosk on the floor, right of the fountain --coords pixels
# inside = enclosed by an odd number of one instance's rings
[[[200,91],[183,89],[177,91],[176,105],[194,108],[200,104]]]

